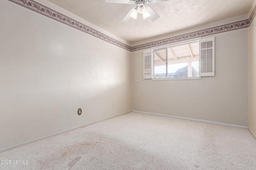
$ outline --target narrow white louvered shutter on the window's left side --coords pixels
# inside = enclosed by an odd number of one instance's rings
[[[144,79],[153,78],[152,50],[143,51],[144,54]]]

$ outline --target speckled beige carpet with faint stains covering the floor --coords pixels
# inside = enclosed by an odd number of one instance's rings
[[[11,162],[1,170],[256,170],[256,139],[248,129],[127,113],[1,152],[0,160]]]

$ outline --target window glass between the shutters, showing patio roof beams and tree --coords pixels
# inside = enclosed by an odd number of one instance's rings
[[[199,77],[199,42],[154,50],[154,78]]]

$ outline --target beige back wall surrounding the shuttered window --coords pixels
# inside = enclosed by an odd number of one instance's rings
[[[144,80],[132,52],[132,109],[248,127],[248,29],[214,37],[215,76],[202,80]]]

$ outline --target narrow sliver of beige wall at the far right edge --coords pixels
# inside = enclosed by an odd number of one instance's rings
[[[256,137],[256,19],[249,27],[249,129]]]

